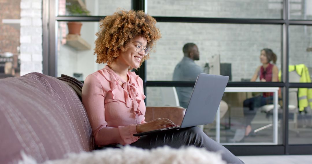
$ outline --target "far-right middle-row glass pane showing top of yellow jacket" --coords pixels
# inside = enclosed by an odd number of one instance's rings
[[[289,31],[289,81],[311,82],[312,26],[291,25]]]

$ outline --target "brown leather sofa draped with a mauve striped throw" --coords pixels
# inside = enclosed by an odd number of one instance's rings
[[[95,148],[81,103],[83,83],[66,75],[29,73],[0,80],[0,163],[18,163],[21,154],[38,163]],[[147,107],[146,121],[169,118],[181,124],[182,107]]]

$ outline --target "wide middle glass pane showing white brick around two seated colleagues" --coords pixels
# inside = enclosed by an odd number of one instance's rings
[[[185,43],[197,45],[199,60],[195,60],[195,64],[200,67],[198,69],[205,73],[228,75],[230,81],[250,81],[261,66],[263,48],[270,48],[276,54],[276,66],[280,70],[280,25],[165,22],[158,22],[157,25],[162,38],[147,60],[148,81],[173,80],[174,68],[184,56],[182,48]],[[185,77],[180,81],[195,80]],[[260,81],[259,77],[256,81]]]

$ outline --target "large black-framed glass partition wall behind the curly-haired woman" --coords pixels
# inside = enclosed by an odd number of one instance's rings
[[[43,71],[84,81],[104,66],[96,64],[93,55],[98,21],[118,9],[144,10],[157,20],[162,33],[150,59],[136,71],[144,81],[147,106],[181,106],[179,89],[192,89],[195,80],[173,80],[173,72],[183,59],[183,45],[195,43],[199,60],[194,63],[203,72],[230,77],[219,115],[212,124],[201,126],[208,136],[236,155],[311,154],[312,85],[307,80],[312,71],[310,3],[44,0]],[[71,10],[77,5],[80,14]],[[69,34],[68,23],[72,22],[80,22],[80,34]],[[256,71],[264,66],[264,49],[275,54],[276,60],[269,57],[275,69],[274,82],[261,81]],[[298,70],[307,71],[300,74]],[[307,105],[300,99],[304,93]]]

